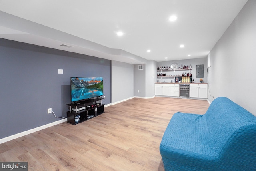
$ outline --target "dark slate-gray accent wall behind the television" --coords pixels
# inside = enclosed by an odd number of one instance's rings
[[[110,60],[0,38],[0,139],[67,117],[76,76],[103,76],[111,103]]]

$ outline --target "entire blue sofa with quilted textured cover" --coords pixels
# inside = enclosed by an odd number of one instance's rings
[[[226,97],[204,115],[177,112],[160,153],[166,171],[256,170],[256,117]]]

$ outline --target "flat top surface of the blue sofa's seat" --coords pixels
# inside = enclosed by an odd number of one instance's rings
[[[169,122],[161,142],[172,151],[184,150],[202,155],[216,156],[215,147],[208,140],[208,127],[204,115],[177,112]]]

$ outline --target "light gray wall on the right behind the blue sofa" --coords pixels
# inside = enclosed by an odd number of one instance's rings
[[[209,89],[256,115],[256,0],[244,8],[211,50]],[[209,101],[213,100],[210,95]]]

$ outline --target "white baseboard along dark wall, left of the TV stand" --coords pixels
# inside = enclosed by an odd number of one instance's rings
[[[55,122],[52,122],[52,123],[48,123],[46,125],[42,125],[40,127],[36,127],[34,129],[30,129],[28,131],[24,131],[24,132],[21,132],[21,133],[17,133],[15,135],[11,135],[9,137],[2,138],[2,139],[0,139],[0,144],[5,143],[7,141],[11,141],[13,139],[16,139],[16,138],[19,138],[19,137],[22,137],[22,136],[25,136],[25,135],[28,135],[30,133],[34,133],[36,131],[40,131],[42,129],[45,129],[45,128],[48,128],[48,127],[51,127],[51,126],[54,126],[54,125],[58,125],[60,123],[66,122],[66,121],[67,121],[67,119],[61,119],[59,121],[55,121]]]

